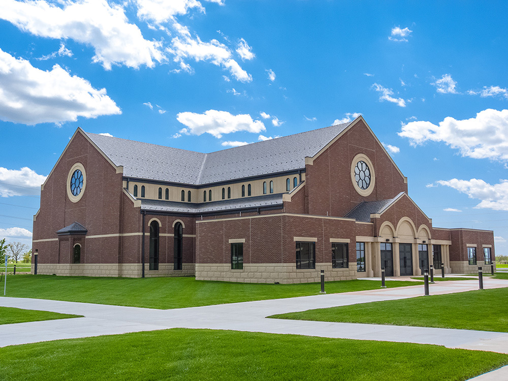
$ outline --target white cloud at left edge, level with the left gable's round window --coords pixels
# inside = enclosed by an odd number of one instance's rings
[[[46,177],[28,167],[19,170],[0,167],[0,197],[37,196]]]

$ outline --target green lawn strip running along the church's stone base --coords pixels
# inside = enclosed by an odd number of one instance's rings
[[[387,281],[387,287],[423,284]],[[379,289],[376,280],[326,283],[327,293]],[[9,297],[65,300],[148,308],[183,308],[319,294],[320,283],[260,284],[196,280],[194,277],[107,278],[23,275],[7,280]]]

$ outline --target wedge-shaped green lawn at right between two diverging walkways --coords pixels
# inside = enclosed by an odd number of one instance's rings
[[[362,303],[270,317],[508,332],[506,300],[508,288],[503,288]]]

